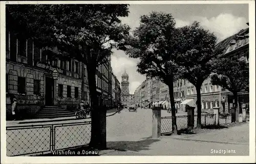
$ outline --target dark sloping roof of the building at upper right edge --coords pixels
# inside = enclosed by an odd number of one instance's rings
[[[216,49],[220,50],[220,54],[219,56],[222,56],[228,49],[229,47],[229,44],[230,42],[233,40],[233,39],[236,39],[237,36],[242,36],[242,35],[245,35],[245,34],[248,34],[249,33],[249,28],[247,29],[243,29],[241,30],[240,32],[238,32],[237,34],[234,34],[226,39],[224,39],[223,41],[219,42],[217,45],[216,45]]]

